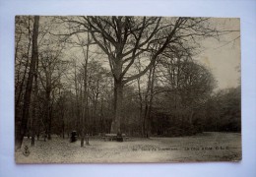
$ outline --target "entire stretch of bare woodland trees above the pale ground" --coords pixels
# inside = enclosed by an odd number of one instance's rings
[[[211,18],[17,16],[15,146],[24,137],[182,137],[241,131],[241,87],[195,60]],[[240,83],[240,81],[237,81]]]

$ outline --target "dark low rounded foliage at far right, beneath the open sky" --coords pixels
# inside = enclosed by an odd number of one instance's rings
[[[204,131],[241,131],[241,88],[221,89],[205,104]]]

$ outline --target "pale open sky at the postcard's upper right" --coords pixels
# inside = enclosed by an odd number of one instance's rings
[[[239,30],[239,19],[213,19],[220,29]],[[207,38],[201,42],[203,51],[196,60],[207,66],[218,82],[218,89],[234,88],[240,84],[240,32],[221,36],[220,41]]]

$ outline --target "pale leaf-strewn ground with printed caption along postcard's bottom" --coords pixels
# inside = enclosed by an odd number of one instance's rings
[[[236,133],[203,133],[182,138],[130,138],[127,142],[104,142],[90,139],[90,146],[80,141],[53,137],[51,141],[25,139],[15,152],[17,163],[104,163],[104,162],[178,162],[237,161],[241,159],[241,135]],[[24,155],[25,146],[30,154]]]

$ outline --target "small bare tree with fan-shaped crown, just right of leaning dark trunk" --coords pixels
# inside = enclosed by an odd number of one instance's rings
[[[45,45],[40,48],[38,76],[44,92],[44,126],[48,140],[51,139],[52,108],[55,91],[61,87],[61,77],[68,67],[68,62],[61,59],[64,45],[58,41],[47,39]],[[58,46],[59,45],[59,46]]]

